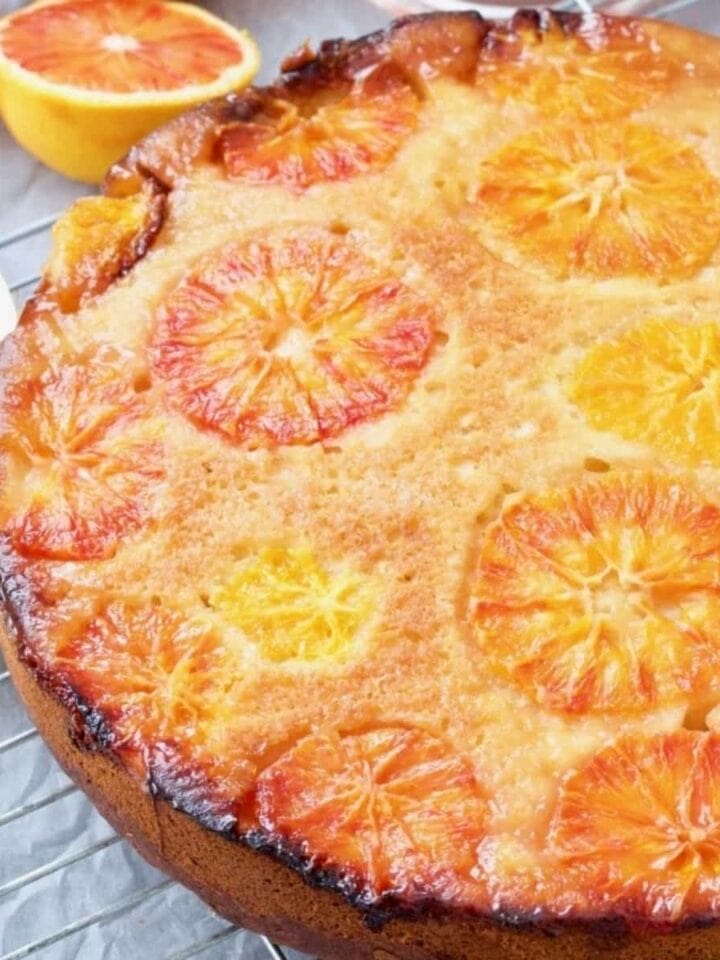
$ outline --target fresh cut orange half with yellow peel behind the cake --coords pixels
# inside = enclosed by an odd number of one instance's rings
[[[0,21],[0,108],[49,167],[98,182],[138,139],[246,86],[247,33],[188,3],[41,0]]]

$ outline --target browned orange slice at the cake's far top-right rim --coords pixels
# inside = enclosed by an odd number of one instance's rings
[[[597,17],[573,36],[559,24],[496,31],[478,65],[479,88],[551,118],[625,116],[667,90],[681,73],[637,22]]]

